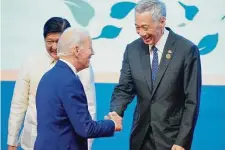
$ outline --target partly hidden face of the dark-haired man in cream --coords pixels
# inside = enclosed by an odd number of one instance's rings
[[[60,36],[61,36],[61,33],[49,33],[45,38],[46,50],[48,51],[49,55],[53,59],[58,59],[57,44],[58,44]]]

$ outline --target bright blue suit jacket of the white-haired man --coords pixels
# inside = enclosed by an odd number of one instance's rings
[[[87,138],[114,134],[112,120],[91,119],[80,80],[60,60],[42,77],[36,107],[35,150],[87,150]]]

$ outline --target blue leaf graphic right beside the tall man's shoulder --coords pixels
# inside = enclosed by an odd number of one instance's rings
[[[206,35],[201,39],[198,44],[198,48],[200,50],[201,55],[208,54],[212,52],[218,43],[218,33]]]

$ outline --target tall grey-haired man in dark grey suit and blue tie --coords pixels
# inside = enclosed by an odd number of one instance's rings
[[[189,150],[201,92],[199,50],[165,28],[166,7],[141,0],[135,8],[141,38],[128,44],[110,111],[123,117],[137,96],[131,150]]]

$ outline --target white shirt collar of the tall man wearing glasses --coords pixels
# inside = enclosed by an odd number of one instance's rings
[[[161,53],[163,53],[163,49],[166,45],[166,40],[168,38],[169,35],[169,31],[164,29],[164,33],[162,35],[162,37],[159,39],[159,41],[155,44],[155,47],[158,49],[158,51],[160,51]],[[153,45],[149,45],[149,49],[152,49]]]

